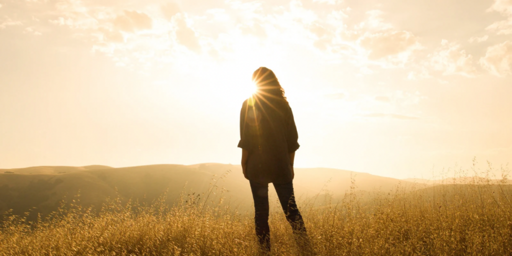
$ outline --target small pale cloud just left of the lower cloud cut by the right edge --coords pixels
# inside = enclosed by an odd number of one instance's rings
[[[447,40],[442,40],[440,49],[431,55],[430,64],[435,70],[443,71],[443,75],[477,75],[473,56],[461,49],[459,44]]]

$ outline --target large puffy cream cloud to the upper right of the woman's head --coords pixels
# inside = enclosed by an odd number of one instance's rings
[[[414,52],[423,49],[419,37],[410,31],[398,30],[386,23],[383,12],[371,10],[366,18],[348,26],[346,11],[332,11],[326,19],[318,18],[307,27],[313,46],[329,53],[329,57],[349,60],[361,68],[361,74],[370,74],[368,65],[385,68],[404,67]]]

